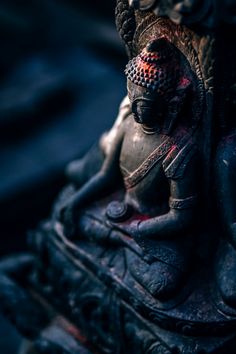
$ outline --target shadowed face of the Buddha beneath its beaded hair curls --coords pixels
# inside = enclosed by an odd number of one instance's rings
[[[163,123],[164,102],[157,93],[128,80],[128,96],[137,123],[150,127]]]

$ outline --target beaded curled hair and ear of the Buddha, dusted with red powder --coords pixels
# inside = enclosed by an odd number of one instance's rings
[[[178,50],[164,38],[150,42],[126,66],[127,78],[137,86],[159,95],[167,105],[164,130],[173,128],[191,88]]]

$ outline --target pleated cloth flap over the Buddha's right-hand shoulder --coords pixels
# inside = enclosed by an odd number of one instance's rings
[[[198,156],[194,136],[187,130],[177,132],[172,149],[163,160],[163,169],[167,178],[183,178],[190,162]]]

